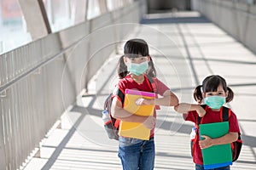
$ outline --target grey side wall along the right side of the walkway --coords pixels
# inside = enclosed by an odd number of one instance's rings
[[[192,8],[256,53],[256,6],[231,0],[192,0]]]

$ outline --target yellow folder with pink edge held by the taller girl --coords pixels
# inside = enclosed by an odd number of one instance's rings
[[[125,89],[125,111],[129,111],[138,116],[153,116],[154,105],[136,105],[136,100],[139,98],[143,99],[154,99],[155,94],[150,92],[143,92],[138,90]],[[139,122],[120,122],[119,135],[148,140],[150,137],[150,130]]]

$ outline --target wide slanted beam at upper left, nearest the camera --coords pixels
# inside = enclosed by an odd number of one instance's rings
[[[26,20],[27,30],[31,33],[32,40],[37,40],[51,33],[42,0],[19,0],[19,3]]]

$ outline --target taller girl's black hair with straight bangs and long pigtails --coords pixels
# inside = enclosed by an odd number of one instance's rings
[[[124,47],[124,54],[122,55],[119,59],[118,63],[118,75],[119,78],[124,78],[127,76],[129,71],[127,71],[127,66],[125,65],[124,62],[124,57],[128,58],[137,58],[140,56],[149,56],[149,61],[148,61],[148,71],[147,74],[150,77],[156,77],[156,71],[154,68],[154,63],[149,55],[149,50],[148,50],[148,43],[145,42],[143,39],[131,39],[125,43]]]

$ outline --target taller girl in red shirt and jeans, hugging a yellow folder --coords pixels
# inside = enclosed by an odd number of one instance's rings
[[[148,77],[152,77],[157,87],[159,99],[138,99],[137,105],[166,105],[178,104],[175,94],[163,82],[156,78],[154,63],[148,53],[148,44],[143,39],[131,39],[125,43],[125,55],[121,56],[118,65],[119,83],[117,88],[125,94],[125,89],[152,92]],[[137,116],[122,107],[118,92],[113,92],[112,116],[125,122],[141,122],[151,129],[150,139],[131,139],[119,137],[119,158],[124,170],[152,170],[154,169],[154,116]]]

